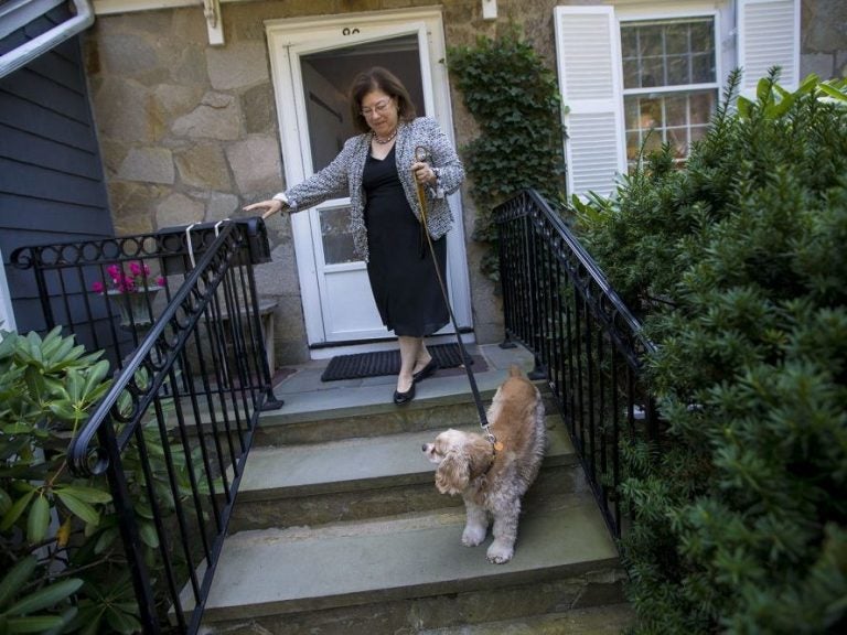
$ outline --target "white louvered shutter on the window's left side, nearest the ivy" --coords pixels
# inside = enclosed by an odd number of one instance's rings
[[[626,169],[621,54],[612,7],[557,7],[559,89],[568,114],[568,194],[608,196]]]

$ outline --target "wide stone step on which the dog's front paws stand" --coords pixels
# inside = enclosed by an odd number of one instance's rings
[[[618,553],[590,495],[525,506],[515,558],[461,545],[446,508],[230,536],[204,633],[399,635],[622,601]]]

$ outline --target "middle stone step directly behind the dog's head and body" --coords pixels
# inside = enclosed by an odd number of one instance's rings
[[[435,418],[439,416],[440,411]],[[475,431],[479,426],[461,428]],[[547,455],[529,496],[585,489],[585,474],[561,418],[548,416],[547,430]],[[247,462],[229,531],[320,525],[461,505],[460,497],[438,493],[435,465],[420,451],[436,434],[424,430],[256,448]]]

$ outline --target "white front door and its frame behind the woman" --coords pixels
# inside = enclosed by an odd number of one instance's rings
[[[433,11],[353,14],[268,24],[271,69],[282,136],[286,182],[294,184],[326,165],[355,131],[346,92],[360,71],[385,66],[409,89],[419,115],[438,119],[452,137],[443,64],[441,15]],[[365,263],[353,255],[347,197],[291,217],[303,313],[310,346],[375,342],[383,325]],[[447,281],[461,330],[471,325],[461,202],[448,235]],[[448,325],[441,333],[452,332]]]

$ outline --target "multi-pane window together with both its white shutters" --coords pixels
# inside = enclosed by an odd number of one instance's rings
[[[794,89],[800,4],[607,0],[556,7],[568,195],[613,194],[642,144],[671,143],[684,161],[708,130],[730,69],[743,68],[744,95],[772,65],[783,67],[783,85]]]

